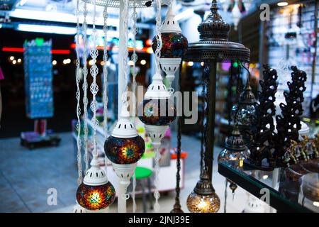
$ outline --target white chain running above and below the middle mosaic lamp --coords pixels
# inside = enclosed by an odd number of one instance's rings
[[[162,15],[161,15],[161,0],[157,0],[157,14],[156,14],[156,40],[157,40],[157,48],[155,50],[155,62],[156,62],[156,73],[155,74],[160,74],[160,65],[159,65],[159,57],[161,55],[160,50],[162,49],[162,37],[161,37],[161,25],[162,25]],[[159,206],[159,159],[161,155],[159,153],[159,148],[155,150],[155,192],[154,192],[154,197],[155,197],[155,204],[154,204],[154,210],[155,212],[159,212],[160,206]]]

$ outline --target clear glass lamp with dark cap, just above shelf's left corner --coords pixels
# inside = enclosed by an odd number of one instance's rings
[[[247,157],[249,157],[249,151],[245,146],[244,140],[242,140],[238,127],[235,126],[225,143],[225,149],[218,155],[218,162],[224,162],[226,165],[241,168]]]

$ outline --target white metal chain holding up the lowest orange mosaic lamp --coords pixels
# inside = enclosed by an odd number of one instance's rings
[[[91,49],[90,55],[92,57],[93,65],[91,66],[90,73],[93,77],[93,82],[90,86],[90,91],[92,93],[92,101],[91,101],[91,111],[93,116],[91,118],[92,128],[93,128],[93,157],[97,157],[98,153],[96,150],[96,127],[99,126],[99,121],[96,119],[96,109],[98,103],[96,101],[96,94],[99,92],[99,86],[96,84],[96,76],[99,73],[99,68],[96,65],[96,58],[99,55],[99,51],[96,48],[96,38],[97,38],[97,31],[96,31],[96,0],[93,0],[93,31],[92,31],[92,40],[93,40],[93,48]]]

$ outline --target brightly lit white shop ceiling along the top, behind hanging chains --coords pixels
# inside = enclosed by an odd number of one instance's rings
[[[225,1],[230,3],[230,0],[220,0],[221,4]],[[242,0],[251,1],[252,7],[248,13],[243,13],[242,16],[247,16],[252,11],[256,11],[256,5],[262,3],[274,4],[278,1],[260,1],[260,0]],[[169,0],[162,0],[162,2],[169,2]],[[195,13],[201,14],[209,13],[211,6],[211,0],[175,0],[173,1],[174,11],[179,16],[179,22],[187,20],[194,16]],[[83,21],[83,6],[84,1],[79,0],[80,22]],[[92,11],[93,5],[87,4],[89,15],[87,21],[92,23]],[[166,6],[162,6],[166,8]],[[222,8],[222,7],[220,7]],[[16,29],[19,23],[32,23],[32,24],[44,24],[51,26],[69,26],[74,28],[74,24],[77,23],[76,17],[77,0],[0,0],[0,28],[13,28]],[[97,26],[103,26],[103,7],[97,6]],[[155,25],[155,9],[154,7],[148,7],[143,9],[137,9],[138,12],[138,28],[154,28]],[[130,11],[132,13],[132,11]],[[162,16],[166,10],[162,11]],[[220,14],[224,20],[228,23],[233,23],[232,13],[228,13],[220,9]],[[119,10],[112,8],[108,9],[108,26],[117,28],[119,26]],[[61,25],[62,23],[62,25]],[[132,23],[130,20],[129,23]]]

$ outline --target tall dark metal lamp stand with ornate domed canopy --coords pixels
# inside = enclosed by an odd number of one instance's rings
[[[186,55],[183,57],[185,61],[204,62],[203,74],[206,74],[206,129],[205,129],[205,167],[207,170],[202,171],[201,179],[196,187],[206,185],[210,190],[211,199],[216,203],[210,211],[218,211],[220,201],[217,194],[213,190],[213,145],[214,145],[214,129],[215,129],[215,111],[216,111],[216,74],[217,62],[249,62],[250,50],[240,43],[230,42],[228,33],[230,26],[223,21],[218,13],[217,1],[213,0],[211,5],[211,13],[198,26],[200,40],[196,43],[190,43]],[[205,182],[205,184],[203,184]],[[195,188],[196,188],[195,187]],[[192,196],[196,196],[196,192],[201,194],[201,190],[195,190]],[[201,197],[201,196],[199,196]],[[199,198],[198,197],[198,198]],[[190,198],[191,199],[191,198]],[[196,200],[194,198],[193,200]],[[191,211],[198,211],[202,204],[191,204]],[[194,207],[195,206],[195,207]]]

